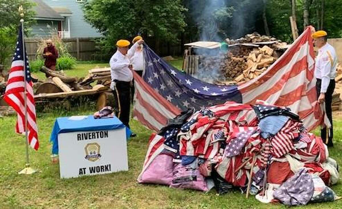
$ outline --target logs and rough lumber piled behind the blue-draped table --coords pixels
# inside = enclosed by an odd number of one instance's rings
[[[114,107],[114,95],[109,89],[110,86],[110,68],[97,68],[89,71],[86,78],[78,79],[65,75],[63,72],[54,71],[46,67],[40,69],[47,77],[44,81],[38,81],[34,75],[31,75],[34,82],[35,101],[45,103],[52,101],[61,101],[66,98],[76,96],[98,95],[96,107],[101,109],[104,106]],[[6,88],[5,76],[0,72],[0,93],[4,94]],[[93,98],[93,97],[92,97]],[[0,106],[6,106],[5,102],[0,100]]]

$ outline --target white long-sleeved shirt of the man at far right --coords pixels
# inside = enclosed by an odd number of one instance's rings
[[[315,64],[315,76],[322,80],[320,93],[326,93],[330,79],[336,76],[338,59],[335,49],[326,43],[318,50]]]

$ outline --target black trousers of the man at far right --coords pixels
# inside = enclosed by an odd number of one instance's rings
[[[321,89],[321,79],[317,79],[316,82],[316,91],[317,91],[317,99],[320,94],[320,89]],[[332,94],[334,93],[335,89],[335,80],[331,79],[329,82],[329,86],[327,89],[327,92],[325,93],[325,111],[328,116],[328,119],[331,124],[331,128],[329,130],[329,135],[328,135],[328,140],[327,140],[327,128],[321,129],[321,138],[323,142],[329,146],[333,145],[332,138],[333,138],[333,128],[332,128],[332,111],[331,111],[331,101],[332,101]]]

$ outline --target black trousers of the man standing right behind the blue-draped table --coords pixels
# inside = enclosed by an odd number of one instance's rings
[[[116,116],[129,128],[129,112],[131,109],[130,100],[130,82],[115,81],[115,90],[113,91],[116,99]]]

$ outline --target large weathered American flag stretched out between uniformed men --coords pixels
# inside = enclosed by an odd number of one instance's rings
[[[159,130],[167,119],[190,107],[200,109],[228,100],[245,104],[263,100],[289,107],[312,130],[323,122],[323,117],[316,101],[311,33],[307,28],[263,74],[239,86],[202,82],[168,65],[146,45],[143,78],[134,72],[133,115],[148,128]]]

